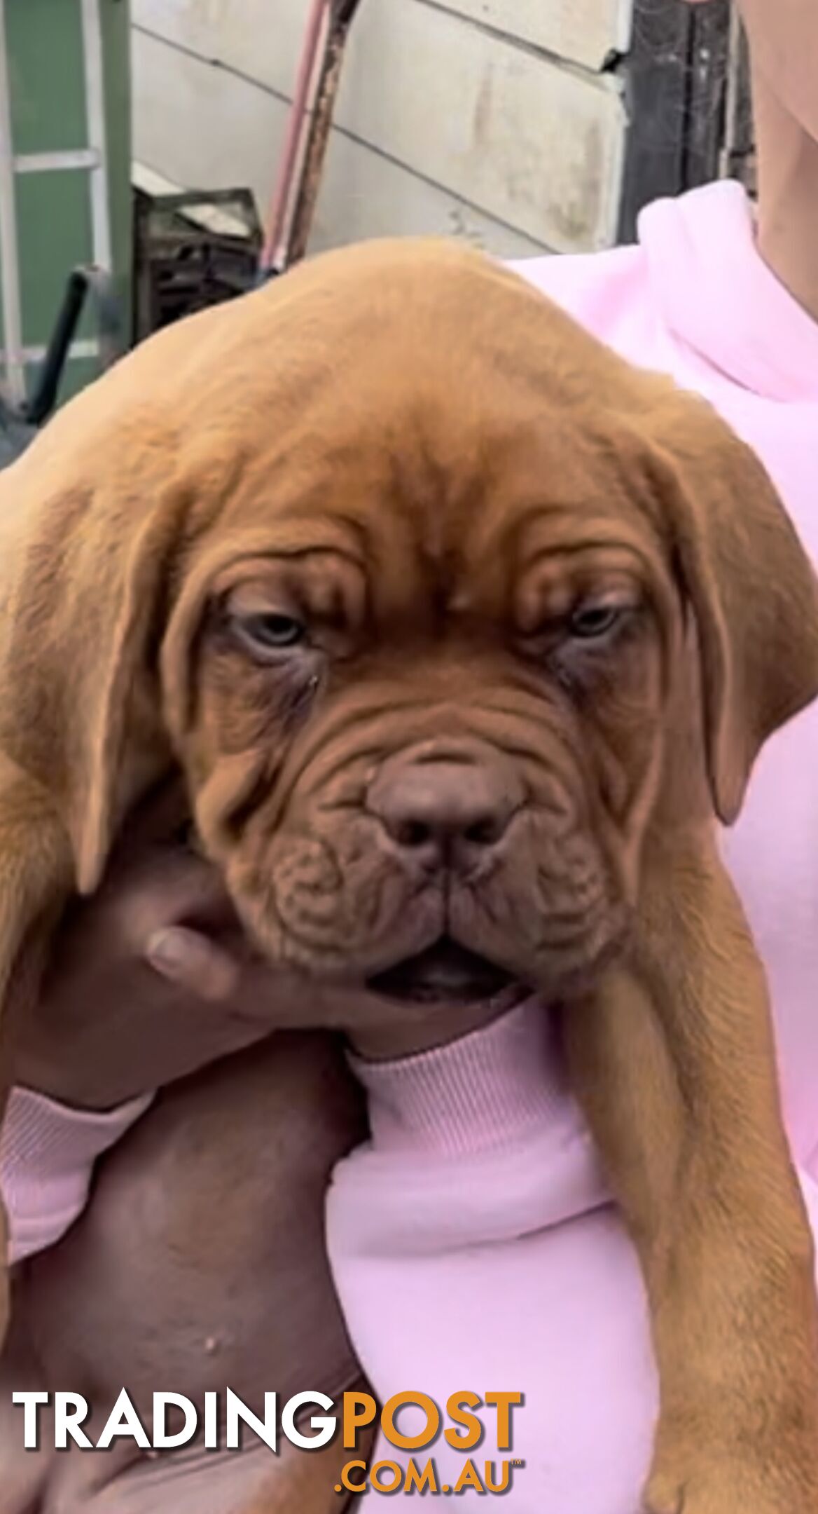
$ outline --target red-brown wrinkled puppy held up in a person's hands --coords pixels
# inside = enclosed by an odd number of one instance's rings
[[[650,1301],[647,1508],[815,1514],[812,1245],[715,845],[818,693],[753,454],[479,254],[369,244],[70,404],[0,584],[6,1079],[67,898],[181,772],[272,963],[561,1007]]]

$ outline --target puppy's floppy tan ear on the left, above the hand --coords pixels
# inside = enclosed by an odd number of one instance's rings
[[[177,512],[139,468],[41,492],[26,463],[0,483],[0,516],[11,491],[24,503],[0,537],[0,749],[48,796],[91,893],[125,810],[169,763],[154,645]]]

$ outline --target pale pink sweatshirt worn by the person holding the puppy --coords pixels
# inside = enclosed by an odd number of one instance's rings
[[[650,206],[637,247],[517,266],[626,357],[705,394],[764,459],[818,562],[818,326],[761,262],[738,185]],[[818,706],[770,743],[724,854],[770,974],[818,1232],[816,771]],[[644,1291],[547,1014],[531,1001],[452,1048],[357,1070],[372,1139],[336,1169],[327,1234],[378,1396],[522,1391],[513,1455],[525,1467],[504,1509],[634,1514],[656,1411]],[[14,1120],[0,1161],[17,1235],[48,1163],[30,1142],[21,1157]],[[39,1243],[56,1229],[42,1223]],[[504,1459],[485,1423],[481,1469]],[[466,1456],[443,1438],[416,1455],[428,1453],[454,1485]]]

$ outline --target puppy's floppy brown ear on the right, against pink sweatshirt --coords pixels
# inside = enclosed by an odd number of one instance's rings
[[[670,392],[652,419],[699,636],[709,783],[729,825],[767,737],[818,695],[818,581],[762,463],[705,401]]]

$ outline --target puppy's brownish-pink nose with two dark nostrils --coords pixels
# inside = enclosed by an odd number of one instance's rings
[[[502,774],[446,759],[386,763],[369,790],[369,810],[425,866],[476,866],[514,813]]]

